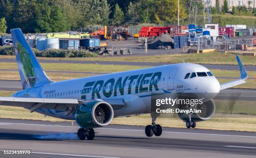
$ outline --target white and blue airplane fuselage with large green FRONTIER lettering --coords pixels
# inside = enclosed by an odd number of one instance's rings
[[[69,99],[123,99],[125,106],[114,111],[114,116],[148,113],[151,109],[152,93],[202,93],[212,99],[218,94],[220,84],[214,76],[191,77],[195,72],[210,72],[198,64],[180,63],[131,70],[113,74],[56,81],[18,91],[13,97],[69,98]],[[185,79],[186,74],[191,73]],[[203,94],[204,93],[204,94]],[[209,95],[207,95],[209,94]],[[74,119],[64,111],[38,109],[37,112],[58,118]]]

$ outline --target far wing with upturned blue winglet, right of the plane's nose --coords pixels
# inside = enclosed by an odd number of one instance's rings
[[[238,66],[239,66],[239,69],[240,69],[240,74],[241,74],[240,79],[237,79],[237,80],[234,80],[234,81],[230,81],[230,82],[226,82],[224,84],[220,84],[220,90],[227,89],[227,88],[230,88],[230,87],[233,87],[233,86],[237,86],[239,84],[243,84],[243,83],[246,82],[246,81],[244,81],[248,77],[246,69],[244,68],[243,63],[241,62],[241,60],[240,60],[238,55],[236,55],[236,59],[237,59]]]

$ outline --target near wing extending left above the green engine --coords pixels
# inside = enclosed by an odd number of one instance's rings
[[[72,108],[79,104],[86,104],[91,101],[95,100],[0,97],[0,105],[24,107],[30,109],[30,112],[37,109],[54,109],[66,111],[65,115],[71,114]],[[102,101],[108,102],[113,110],[120,109],[125,105],[123,99],[104,99]]]

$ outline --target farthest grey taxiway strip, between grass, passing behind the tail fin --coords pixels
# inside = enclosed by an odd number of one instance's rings
[[[0,59],[0,62],[16,62],[16,59]],[[108,61],[77,61],[77,60],[39,60],[44,63],[73,63],[73,64],[116,64],[116,65],[136,65],[136,66],[161,66],[172,63],[159,62],[108,62]],[[207,69],[222,69],[222,70],[239,70],[237,65],[218,65],[218,64],[200,64]],[[245,66],[247,71],[256,71],[256,66]]]

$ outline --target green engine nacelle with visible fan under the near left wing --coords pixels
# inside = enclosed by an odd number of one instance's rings
[[[74,117],[81,128],[96,128],[107,126],[113,120],[114,111],[105,101],[92,101],[78,106]]]

